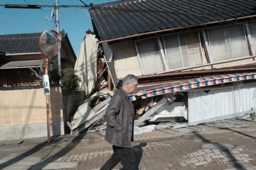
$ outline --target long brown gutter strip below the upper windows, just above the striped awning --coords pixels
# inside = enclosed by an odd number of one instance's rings
[[[209,70],[198,70],[198,71],[180,71],[175,73],[162,73],[162,74],[154,74],[154,75],[141,75],[137,76],[138,79],[144,78],[152,78],[152,77],[164,77],[171,75],[190,75],[196,73],[217,73],[217,72],[225,72],[225,71],[247,71],[247,70],[256,70],[256,65],[254,67],[249,68],[234,68],[234,69],[209,69]],[[118,78],[118,81],[123,80],[124,78]]]

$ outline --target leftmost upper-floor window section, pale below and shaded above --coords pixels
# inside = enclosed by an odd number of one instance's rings
[[[157,38],[136,42],[144,74],[154,74],[165,71]]]

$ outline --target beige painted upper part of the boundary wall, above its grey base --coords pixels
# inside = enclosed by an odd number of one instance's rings
[[[62,120],[60,87],[51,87],[50,122]],[[43,89],[0,91],[0,126],[46,123],[46,97]]]

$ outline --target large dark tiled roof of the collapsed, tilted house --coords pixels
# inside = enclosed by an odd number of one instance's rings
[[[121,0],[90,13],[101,40],[111,40],[254,15],[256,0]]]

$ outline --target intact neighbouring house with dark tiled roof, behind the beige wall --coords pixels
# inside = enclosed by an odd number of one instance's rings
[[[38,77],[30,76],[29,68],[40,67],[44,55],[39,48],[42,33],[0,35],[0,87],[40,85]],[[76,55],[68,39],[62,34],[61,68],[74,68]],[[57,59],[57,57],[55,57]]]

